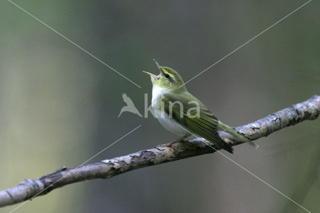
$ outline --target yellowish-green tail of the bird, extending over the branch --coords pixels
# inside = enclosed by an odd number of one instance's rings
[[[258,147],[258,145],[255,142],[252,142],[251,140],[237,132],[234,128],[222,123],[221,121],[218,122],[218,125],[216,127],[221,137],[226,137],[241,142],[249,142],[255,148]]]

